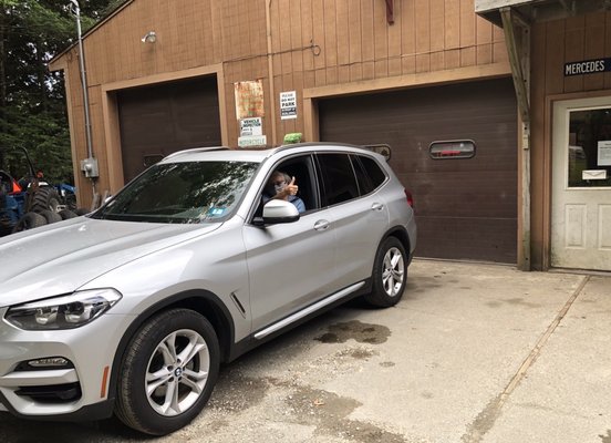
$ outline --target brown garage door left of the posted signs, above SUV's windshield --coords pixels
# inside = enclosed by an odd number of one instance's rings
[[[121,91],[117,102],[125,182],[173,152],[221,144],[216,76]]]

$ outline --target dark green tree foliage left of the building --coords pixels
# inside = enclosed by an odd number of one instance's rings
[[[81,0],[83,32],[124,1]],[[25,147],[49,181],[73,181],[64,83],[48,64],[76,38],[69,0],[0,0],[0,167],[12,175],[24,163],[11,148]]]

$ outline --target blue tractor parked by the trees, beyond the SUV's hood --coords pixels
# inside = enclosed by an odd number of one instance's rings
[[[76,216],[74,187],[50,185],[37,171],[25,148],[27,173],[15,179],[2,169],[4,153],[0,147],[0,236],[35,228]]]

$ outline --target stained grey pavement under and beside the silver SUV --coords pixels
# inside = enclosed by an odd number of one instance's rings
[[[415,260],[403,300],[334,309],[221,369],[158,439],[0,415],[0,442],[611,443],[611,275]]]

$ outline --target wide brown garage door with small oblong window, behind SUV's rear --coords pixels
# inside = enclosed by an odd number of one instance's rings
[[[510,79],[332,99],[322,141],[387,143],[415,199],[420,257],[516,262],[517,111]],[[472,158],[434,159],[436,141],[475,142]]]

